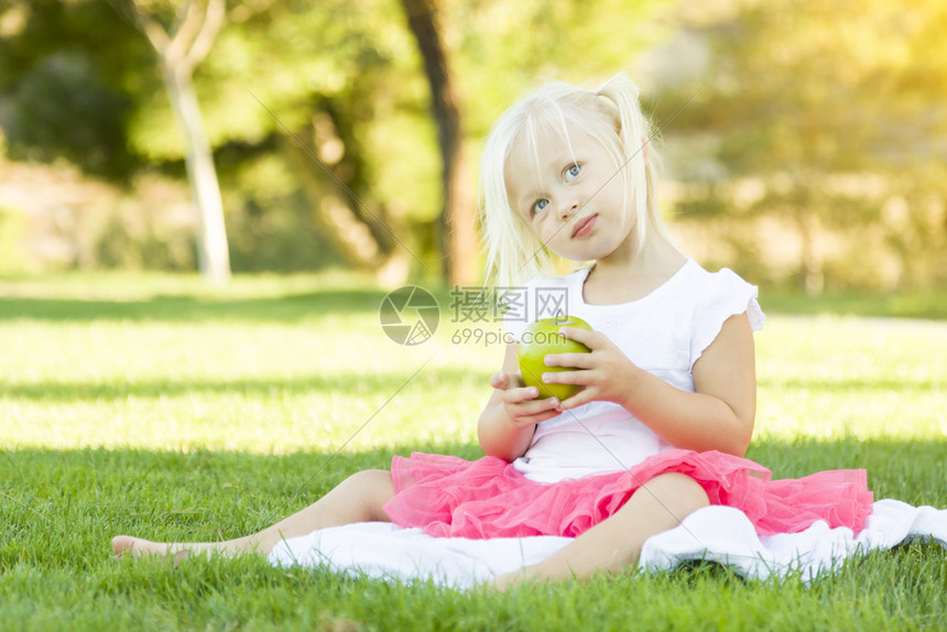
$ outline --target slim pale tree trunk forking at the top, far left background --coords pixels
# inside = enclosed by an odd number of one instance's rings
[[[119,0],[112,0],[118,2]],[[144,34],[157,54],[167,99],[185,145],[185,165],[198,214],[197,253],[200,273],[215,283],[230,279],[230,254],[224,220],[224,201],[214,151],[207,138],[194,88],[194,70],[207,55],[224,25],[225,0],[188,0],[166,28],[160,14],[166,7],[149,0],[117,4]]]

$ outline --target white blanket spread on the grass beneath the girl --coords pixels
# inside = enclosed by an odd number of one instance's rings
[[[740,510],[708,506],[645,542],[639,567],[665,570],[688,560],[709,559],[749,578],[798,571],[808,582],[849,556],[911,540],[933,540],[947,548],[947,510],[880,500],[857,537],[849,529],[829,529],[821,521],[802,533],[759,537]],[[418,529],[359,523],[284,541],[272,551],[270,562],[275,566],[326,566],[401,581],[429,579],[462,589],[535,564],[568,543],[567,537],[553,536],[432,537]]]

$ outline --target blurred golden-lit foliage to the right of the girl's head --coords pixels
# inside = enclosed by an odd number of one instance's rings
[[[672,102],[696,90],[667,139],[695,183],[675,215],[717,222],[708,258],[812,292],[947,281],[945,29],[936,1],[737,2],[692,17],[704,72],[662,83]]]

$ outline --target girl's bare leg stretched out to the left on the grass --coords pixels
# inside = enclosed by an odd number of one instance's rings
[[[329,493],[306,509],[252,535],[226,542],[149,542],[128,535],[112,538],[112,548],[121,557],[131,555],[171,555],[176,559],[189,553],[220,552],[225,555],[270,553],[282,540],[306,535],[317,529],[356,522],[387,522],[382,511],[394,495],[391,473],[387,470],[366,470],[355,473]]]

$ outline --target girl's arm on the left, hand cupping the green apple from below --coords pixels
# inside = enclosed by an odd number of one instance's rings
[[[494,390],[477,424],[483,453],[507,461],[525,454],[536,424],[563,411],[555,400],[536,400],[538,391],[523,385],[516,363],[516,345],[507,345],[503,369],[490,375],[490,385]]]

